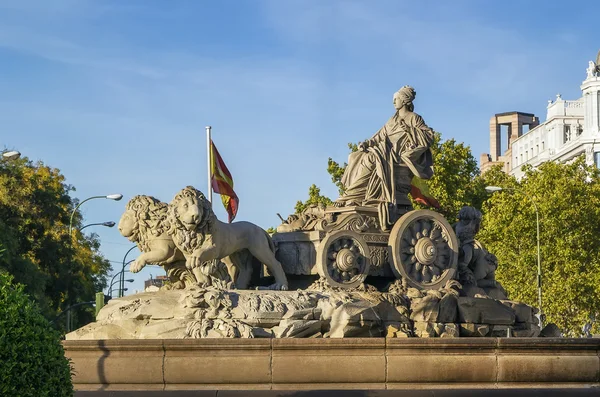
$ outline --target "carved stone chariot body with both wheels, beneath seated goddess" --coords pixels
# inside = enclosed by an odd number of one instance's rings
[[[437,212],[408,210],[389,232],[382,230],[375,207],[320,212],[313,212],[314,222],[286,221],[272,236],[286,274],[319,274],[340,288],[355,288],[367,276],[396,277],[418,289],[440,289],[456,274],[458,239]],[[299,220],[314,230],[286,231]]]

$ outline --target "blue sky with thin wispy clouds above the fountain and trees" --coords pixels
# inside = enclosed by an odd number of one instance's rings
[[[206,191],[212,125],[238,220],[267,228],[312,183],[336,197],[328,157],[377,131],[405,84],[477,158],[493,114],[544,120],[557,93],[579,98],[598,15],[589,1],[0,0],[0,146],[61,169],[79,199],[122,193],[82,207],[118,221],[136,194]],[[120,262],[131,244],[93,231]]]

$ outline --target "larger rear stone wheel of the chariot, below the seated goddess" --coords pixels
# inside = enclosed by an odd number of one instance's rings
[[[458,262],[458,239],[437,212],[416,210],[403,215],[390,233],[392,270],[418,289],[439,289],[452,279]]]

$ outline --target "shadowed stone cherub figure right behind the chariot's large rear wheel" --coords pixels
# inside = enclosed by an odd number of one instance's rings
[[[507,299],[506,291],[496,281],[498,259],[475,239],[481,225],[481,212],[473,207],[462,207],[455,225],[459,240],[458,280],[461,294],[494,299]]]

